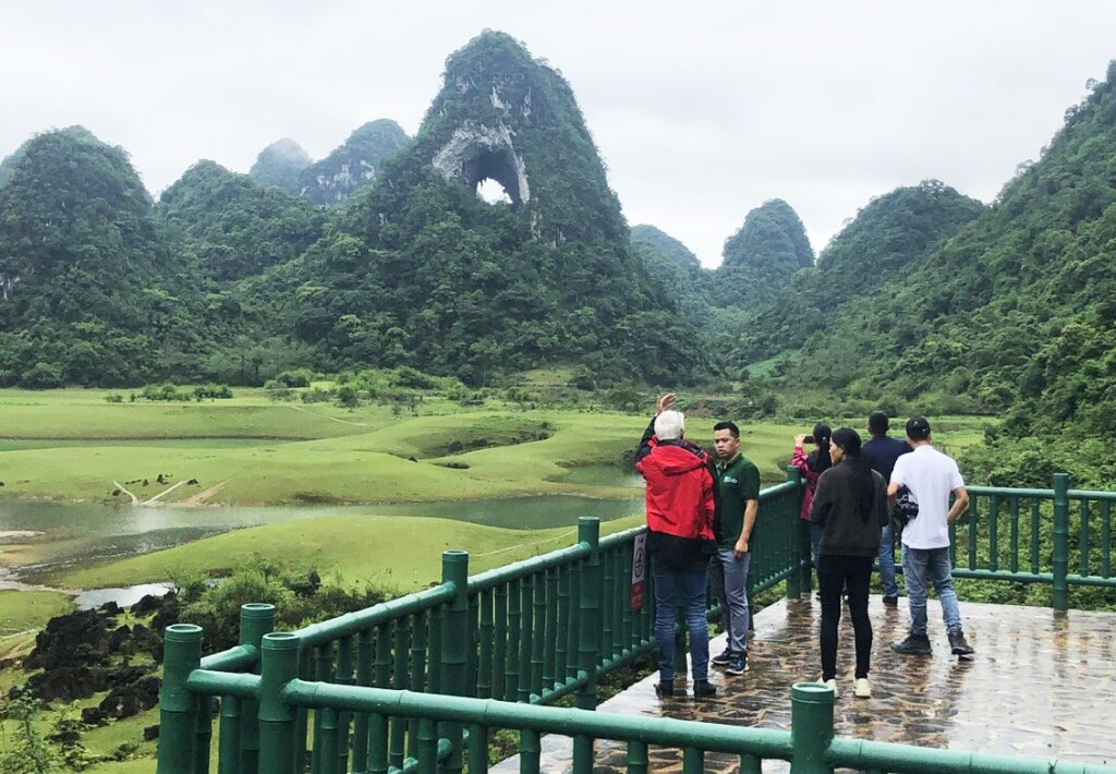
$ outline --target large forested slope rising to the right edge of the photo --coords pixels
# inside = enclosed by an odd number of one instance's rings
[[[822,411],[859,400],[926,412],[1001,413],[1007,421],[997,452],[984,458],[993,480],[1049,481],[1054,468],[1070,470],[1078,481],[1110,480],[1116,462],[1108,441],[1116,426],[1116,63],[1105,82],[1066,112],[1042,157],[1021,166],[991,207],[933,189],[917,194],[923,214],[915,220],[929,214],[927,223],[936,222],[940,230],[920,236],[904,226],[893,231],[889,219],[869,211],[878,207],[869,207],[862,218],[870,216],[864,226],[872,228],[862,232],[854,223],[846,229],[856,229],[849,239],[835,239],[838,255],[853,256],[846,249],[853,237],[879,247],[882,252],[862,255],[886,266],[893,264],[886,255],[894,243],[889,233],[913,237],[912,247],[901,251],[913,255],[920,254],[920,241],[931,245],[940,235],[924,257],[893,269],[894,276],[870,295],[850,297],[853,288],[845,285],[829,297],[828,314],[820,305],[811,307],[807,316],[822,318],[818,329],[801,347],[781,351],[783,376],[769,386],[809,384]],[[927,194],[936,210],[926,206]],[[875,204],[889,209],[892,203]],[[951,223],[960,226],[952,235]],[[852,283],[850,271],[836,274]],[[822,287],[840,286],[821,283],[817,289]],[[789,334],[786,316],[771,314],[756,325],[763,329],[744,338],[745,363],[779,352]]]

